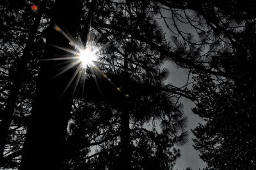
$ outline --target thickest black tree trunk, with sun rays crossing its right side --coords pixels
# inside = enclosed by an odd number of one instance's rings
[[[54,29],[54,26],[56,24],[68,35],[76,37],[81,8],[79,0],[56,0],[52,8],[52,24],[47,28],[47,45],[43,59],[67,56],[63,50],[52,47],[52,45],[70,47],[67,38],[58,31],[58,27]],[[63,66],[72,63],[72,61],[66,62],[41,62],[35,104],[31,112],[31,125],[20,166],[22,170],[59,169],[60,167],[74,85],[71,84],[67,90],[65,89],[75,69],[53,77]]]

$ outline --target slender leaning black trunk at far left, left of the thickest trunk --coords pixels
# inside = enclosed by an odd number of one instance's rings
[[[17,72],[15,75],[11,77],[13,79],[13,85],[10,89],[10,95],[6,102],[6,107],[4,111],[1,113],[2,120],[0,124],[0,164],[4,163],[4,146],[6,144],[6,139],[8,137],[8,130],[10,128],[10,124],[12,122],[13,111],[15,108],[15,104],[17,102],[17,98],[19,96],[19,90],[22,86],[22,82],[24,81],[24,77],[27,72],[26,63],[29,59],[29,52],[31,51],[31,47],[33,47],[33,43],[35,40],[36,31],[40,25],[40,20],[42,17],[42,12],[39,11],[33,26],[31,27],[31,32],[26,42],[26,47],[24,48],[23,55],[18,63]]]

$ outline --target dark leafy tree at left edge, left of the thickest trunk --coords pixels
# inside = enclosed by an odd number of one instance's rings
[[[41,17],[42,12],[33,12],[27,1],[19,6],[13,5],[12,1],[1,4],[1,164],[9,164],[12,158],[20,155],[22,134],[25,131],[24,121],[20,121],[20,118],[28,114],[31,104],[31,95],[28,93],[33,94],[34,90],[36,63],[33,61],[38,54],[38,47],[42,45],[36,36]]]

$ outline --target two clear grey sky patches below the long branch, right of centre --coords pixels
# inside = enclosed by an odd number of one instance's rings
[[[168,68],[170,71],[170,75],[168,79],[166,79],[166,83],[171,83],[174,86],[181,87],[186,84],[188,75],[186,70],[177,68],[173,63],[166,62],[164,63],[163,67]],[[190,79],[191,81],[191,79]],[[191,129],[198,126],[198,123],[204,123],[202,118],[197,116],[191,111],[191,108],[195,107],[195,104],[188,100],[187,98],[182,97],[181,99],[182,104],[184,105],[184,114],[188,118],[188,143],[184,144],[183,146],[177,146],[180,148],[181,157],[177,159],[175,166],[173,169],[183,170],[186,167],[190,167],[193,170],[198,170],[199,168],[202,169],[206,166],[205,162],[200,159],[199,151],[196,151],[193,148],[193,141],[192,138],[195,136],[192,134]]]

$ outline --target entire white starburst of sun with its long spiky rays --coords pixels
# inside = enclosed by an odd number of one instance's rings
[[[124,93],[122,91],[121,88],[115,86],[115,84],[111,81],[111,79],[108,78],[108,76],[102,72],[102,70],[100,70],[100,68],[96,65],[106,65],[106,66],[113,66],[113,67],[118,67],[121,68],[120,66],[116,66],[116,65],[111,65],[108,63],[102,63],[100,61],[98,61],[99,59],[99,55],[100,54],[100,50],[99,47],[97,47],[97,42],[100,39],[100,36],[95,38],[92,36],[88,37],[88,42],[86,43],[86,46],[84,47],[83,43],[81,41],[77,41],[75,40],[75,38],[73,38],[72,36],[70,36],[68,33],[65,33],[65,31],[63,31],[60,27],[58,27],[57,25],[54,26],[54,29],[58,32],[60,32],[63,36],[65,36],[65,38],[67,38],[67,40],[70,42],[70,45],[72,47],[74,47],[74,49],[68,49],[67,47],[58,47],[57,45],[51,45],[52,47],[55,47],[57,49],[63,50],[65,52],[67,52],[67,55],[61,55],[59,58],[51,58],[51,59],[42,59],[41,61],[65,61],[65,62],[61,62],[59,65],[65,65],[63,66],[63,68],[61,68],[56,75],[54,75],[54,77],[52,77],[52,79],[60,76],[61,74],[67,72],[68,70],[74,68],[75,66],[76,71],[74,72],[74,74],[72,75],[72,77],[70,78],[70,81],[68,81],[67,86],[65,87],[61,97],[63,97],[63,95],[65,94],[65,92],[67,91],[67,89],[70,87],[70,85],[72,84],[72,82],[76,79],[76,82],[74,82],[74,91],[72,91],[72,96],[75,93],[75,90],[77,88],[77,85],[79,84],[79,81],[81,79],[86,79],[86,70],[90,69],[90,73],[92,73],[92,77],[95,80],[95,84],[97,86],[97,88],[99,89],[100,95],[102,95],[102,91],[100,90],[100,86],[99,86],[99,82],[97,81],[97,79],[95,78],[95,76],[97,76],[97,74],[102,75],[104,77],[104,79],[107,79],[108,82],[122,95],[124,95],[124,97],[129,97],[129,95],[127,95],[126,93]],[[104,47],[107,47],[111,45],[111,43],[106,43],[106,45]],[[71,55],[71,56],[70,56]],[[113,55],[113,54],[104,54],[106,55]],[[65,56],[65,57],[64,57]],[[78,66],[77,66],[78,65]],[[130,72],[131,70],[127,70],[122,68],[123,70],[126,70],[128,72]],[[82,97],[84,96],[84,89],[85,89],[85,81],[83,81],[83,92],[82,92]]]

